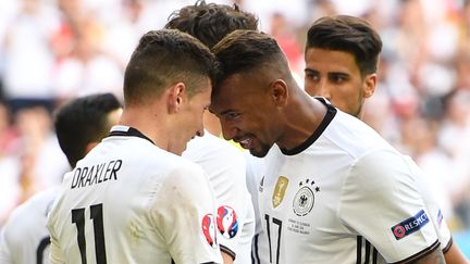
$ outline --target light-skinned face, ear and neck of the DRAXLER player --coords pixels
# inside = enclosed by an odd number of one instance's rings
[[[132,126],[150,138],[159,148],[181,155],[187,142],[203,135],[203,113],[209,108],[211,83],[205,78],[203,91],[188,96],[188,87],[176,83],[160,97],[127,105],[120,124]]]

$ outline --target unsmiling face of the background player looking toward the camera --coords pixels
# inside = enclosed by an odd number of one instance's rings
[[[373,95],[376,74],[361,76],[351,53],[309,48],[305,55],[305,90],[322,96],[339,110],[360,117],[366,98]]]

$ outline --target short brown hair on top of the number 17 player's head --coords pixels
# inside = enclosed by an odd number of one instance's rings
[[[287,59],[276,40],[264,33],[235,30],[212,48],[220,62],[217,84],[239,73],[275,74],[279,78],[289,78]],[[217,86],[214,91],[217,92]]]

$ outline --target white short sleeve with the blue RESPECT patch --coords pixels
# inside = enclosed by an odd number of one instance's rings
[[[398,152],[375,150],[357,159],[344,181],[338,217],[388,263],[419,257],[440,244],[411,173]]]

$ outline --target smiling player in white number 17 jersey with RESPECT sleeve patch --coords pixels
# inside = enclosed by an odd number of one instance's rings
[[[269,35],[236,30],[212,51],[211,112],[226,139],[267,156],[259,205],[271,263],[444,263],[397,150],[300,89]]]

